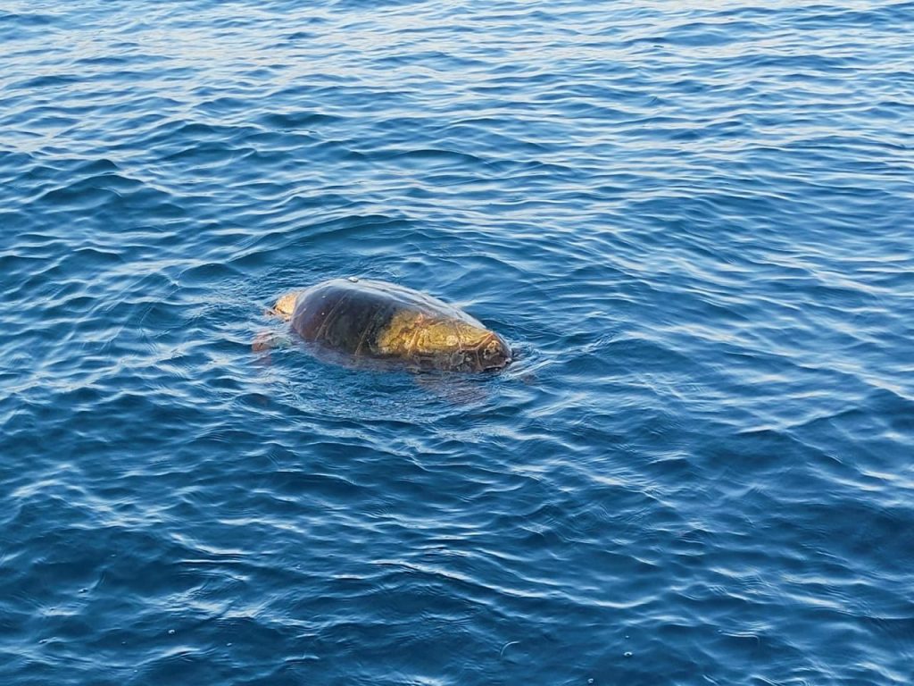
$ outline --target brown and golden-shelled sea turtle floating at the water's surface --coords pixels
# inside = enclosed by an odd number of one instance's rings
[[[332,279],[282,295],[271,314],[304,340],[354,358],[395,360],[416,370],[500,370],[505,339],[441,300],[396,284]]]

